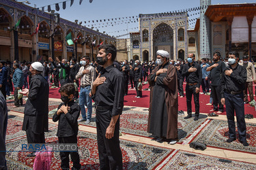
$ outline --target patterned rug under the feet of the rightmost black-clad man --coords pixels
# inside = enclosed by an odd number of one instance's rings
[[[245,147],[242,145],[242,143],[238,141],[239,137],[237,129],[236,141],[233,141],[231,143],[225,142],[229,138],[229,128],[227,121],[211,119],[208,120],[210,120],[209,123],[200,133],[195,136],[192,141],[199,141],[201,143],[205,143],[207,146],[212,146],[216,148],[256,153],[256,124],[246,124],[246,140],[250,146]]]

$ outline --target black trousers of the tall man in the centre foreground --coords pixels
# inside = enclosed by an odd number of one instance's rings
[[[106,139],[106,129],[111,122],[111,111],[96,109],[96,126],[100,169],[122,169],[122,152],[119,141],[119,119],[115,124],[114,137]]]

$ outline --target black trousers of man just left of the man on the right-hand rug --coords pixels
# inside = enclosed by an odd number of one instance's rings
[[[212,92],[212,103],[214,106],[215,111],[223,112],[224,107],[221,104],[221,86],[212,86],[211,85],[211,92]]]

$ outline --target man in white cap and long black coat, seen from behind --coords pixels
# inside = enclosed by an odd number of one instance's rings
[[[22,129],[27,133],[27,143],[45,143],[44,132],[48,131],[49,85],[42,76],[43,70],[42,63],[32,63],[29,68],[32,75],[29,89],[20,92],[27,95]],[[35,152],[27,156],[35,156]]]

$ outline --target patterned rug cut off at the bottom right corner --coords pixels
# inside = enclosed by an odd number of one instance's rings
[[[256,169],[256,165],[175,150],[156,169]]]

